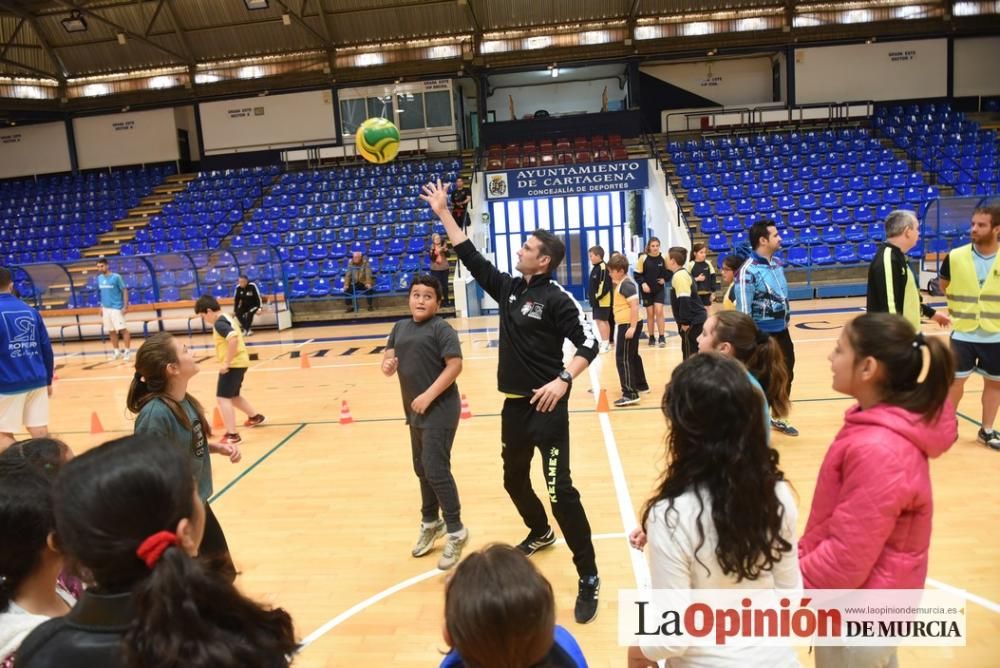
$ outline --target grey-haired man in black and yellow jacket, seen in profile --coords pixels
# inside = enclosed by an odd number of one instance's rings
[[[917,279],[906,261],[906,254],[917,245],[920,222],[912,211],[893,211],[885,219],[885,243],[868,265],[868,312],[895,313],[920,329],[920,317],[942,327],[951,324],[943,313],[923,303]]]

